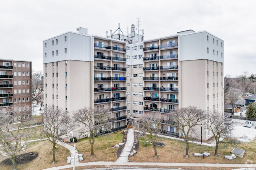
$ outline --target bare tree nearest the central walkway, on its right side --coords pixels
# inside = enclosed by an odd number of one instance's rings
[[[141,132],[139,134],[152,143],[155,158],[157,157],[156,143],[160,138],[159,129],[161,122],[166,120],[167,117],[159,112],[145,112],[133,123],[135,128]]]

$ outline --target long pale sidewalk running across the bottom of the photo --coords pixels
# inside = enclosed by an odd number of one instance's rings
[[[235,167],[235,168],[251,168],[256,167],[256,164],[218,164],[218,163],[141,163],[141,162],[126,162],[126,163],[117,163],[117,162],[88,162],[88,163],[80,163],[76,166],[93,166],[93,165],[127,165],[127,166],[193,166],[193,167]],[[61,170],[65,168],[72,168],[72,165],[64,165],[58,167],[47,168],[44,170]],[[122,167],[124,168],[124,167]],[[156,167],[155,167],[156,168]]]

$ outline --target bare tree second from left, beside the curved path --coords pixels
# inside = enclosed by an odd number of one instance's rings
[[[69,113],[47,106],[43,112],[43,125],[41,135],[45,135],[46,140],[52,143],[52,164],[54,164],[57,139],[73,130],[74,123]]]

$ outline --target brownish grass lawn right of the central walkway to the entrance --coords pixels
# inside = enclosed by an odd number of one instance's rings
[[[151,144],[144,147],[146,140],[140,138],[139,149],[137,154],[129,158],[130,162],[170,162],[170,163],[231,163],[231,164],[244,164],[247,159],[256,163],[256,140],[250,143],[240,144],[220,144],[218,150],[218,157],[214,156],[215,147],[200,146],[198,144],[189,144],[189,158],[186,156],[186,143],[173,139],[161,138],[159,141],[165,143],[163,148],[157,146],[158,157],[154,159],[154,148]],[[231,155],[230,151],[234,148],[241,148],[246,150],[243,158],[237,157],[232,161],[225,159],[224,155]],[[209,157],[195,157],[194,153],[209,152]]]

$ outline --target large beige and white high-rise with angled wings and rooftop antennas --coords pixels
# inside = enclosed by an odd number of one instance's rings
[[[111,108],[117,117],[113,129],[144,112],[168,115],[191,105],[224,112],[224,42],[211,33],[187,30],[139,42],[132,32],[124,41],[120,32],[101,37],[77,31],[43,42],[45,106],[68,112]],[[160,131],[181,136],[168,120]],[[209,139],[203,130],[203,140]]]

